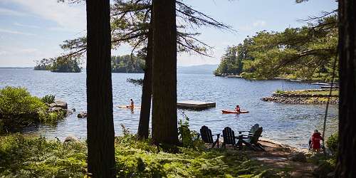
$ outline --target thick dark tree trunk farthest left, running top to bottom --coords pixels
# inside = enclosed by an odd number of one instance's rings
[[[88,173],[115,177],[109,0],[87,0]]]

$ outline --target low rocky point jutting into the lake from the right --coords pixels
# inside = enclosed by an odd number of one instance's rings
[[[328,89],[326,89],[328,90]],[[315,91],[315,90],[298,90],[300,91]],[[323,91],[319,89],[316,91]],[[271,97],[261,98],[263,101],[288,104],[326,104],[328,95],[321,94],[295,94],[295,93],[272,93]],[[331,95],[330,104],[337,105],[339,103],[338,95]]]

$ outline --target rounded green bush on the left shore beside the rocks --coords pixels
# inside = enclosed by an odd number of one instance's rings
[[[6,86],[0,90],[0,133],[19,132],[36,123],[54,124],[66,117],[66,110],[49,110],[53,95],[38,98],[26,88]]]

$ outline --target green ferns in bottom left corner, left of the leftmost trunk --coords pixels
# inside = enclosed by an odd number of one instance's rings
[[[45,140],[43,137],[0,137],[0,177],[83,177],[83,142]]]

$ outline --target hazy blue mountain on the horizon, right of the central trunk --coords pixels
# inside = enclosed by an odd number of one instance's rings
[[[199,66],[178,66],[177,73],[212,75],[216,68],[218,68],[217,64],[205,64]]]

